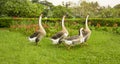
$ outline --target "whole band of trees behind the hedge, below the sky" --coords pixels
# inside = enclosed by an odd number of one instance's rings
[[[77,6],[71,2],[63,3],[63,6],[54,6],[47,0],[40,2],[38,0],[1,0],[0,4],[0,17],[38,17],[41,13],[52,18],[60,18],[63,15],[68,15],[70,18],[84,18],[88,14],[91,18],[120,17],[119,4],[114,8],[101,7],[97,2],[86,1],[81,1]]]

